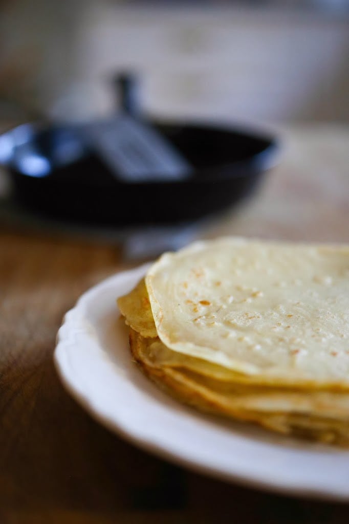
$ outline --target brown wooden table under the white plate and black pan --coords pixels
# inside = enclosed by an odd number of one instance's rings
[[[284,133],[280,165],[254,199],[206,228],[349,241],[345,127]],[[62,315],[126,266],[112,245],[0,230],[0,522],[104,524],[348,522],[349,508],[228,485],[137,450],[63,389],[52,353]],[[129,264],[128,264],[129,265]]]

